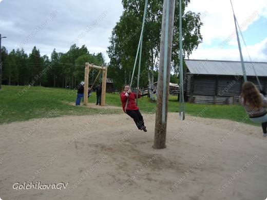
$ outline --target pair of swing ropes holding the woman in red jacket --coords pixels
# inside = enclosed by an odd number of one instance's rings
[[[144,16],[143,16],[143,23],[142,23],[142,30],[141,30],[141,33],[140,33],[140,39],[139,39],[139,44],[138,44],[138,48],[137,48],[137,53],[136,53],[136,59],[135,59],[135,65],[133,66],[133,70],[132,70],[132,76],[131,76],[131,82],[130,82],[130,88],[131,88],[131,84],[132,84],[132,79],[133,79],[133,75],[135,74],[135,69],[136,69],[136,63],[137,63],[137,57],[138,57],[138,52],[139,52],[139,49],[140,49],[140,46],[141,46],[141,49],[142,49],[142,41],[143,41],[143,33],[144,33],[144,25],[145,25],[145,17],[146,17],[146,9],[147,9],[147,1],[145,1],[145,9],[144,9]],[[138,69],[138,83],[137,83],[137,88],[139,89],[139,76],[140,76],[140,68],[141,68],[141,50],[140,50],[140,57],[139,57],[139,69]],[[128,106],[128,101],[129,101],[129,98],[127,98],[127,102],[126,102],[126,105],[125,105],[125,112],[126,112],[126,108]]]

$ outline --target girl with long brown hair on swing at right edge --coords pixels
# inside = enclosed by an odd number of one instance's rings
[[[240,102],[246,113],[249,114],[251,121],[261,123],[263,136],[267,136],[267,112],[265,110],[267,98],[259,93],[252,82],[245,82],[242,85]]]

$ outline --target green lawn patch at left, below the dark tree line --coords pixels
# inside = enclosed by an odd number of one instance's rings
[[[0,124],[63,115],[97,114],[99,109],[75,105],[75,90],[27,86],[2,86],[0,91]],[[96,102],[92,96],[89,102]],[[108,109],[106,114],[119,113]]]

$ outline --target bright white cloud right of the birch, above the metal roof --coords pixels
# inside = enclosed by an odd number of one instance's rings
[[[242,32],[253,22],[256,22],[259,16],[267,18],[267,4],[265,1],[232,0],[232,3]],[[203,17],[201,21],[204,24],[201,27],[203,43],[199,45],[198,49],[189,58],[240,61],[234,16],[230,1],[191,0],[187,10],[202,13]],[[219,48],[222,44],[227,45]],[[264,50],[260,50],[264,49],[264,47],[266,48],[266,41],[247,48],[251,57],[257,57],[258,61],[266,62],[267,55],[263,53]],[[246,52],[246,49],[243,49],[243,52]],[[244,56],[244,58],[249,61],[248,56]]]

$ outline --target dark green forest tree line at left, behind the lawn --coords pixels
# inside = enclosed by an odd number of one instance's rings
[[[86,46],[72,45],[68,52],[40,55],[35,46],[28,55],[24,49],[8,52],[2,47],[2,84],[74,88],[84,79],[85,63],[105,65],[102,53],[90,54]]]

